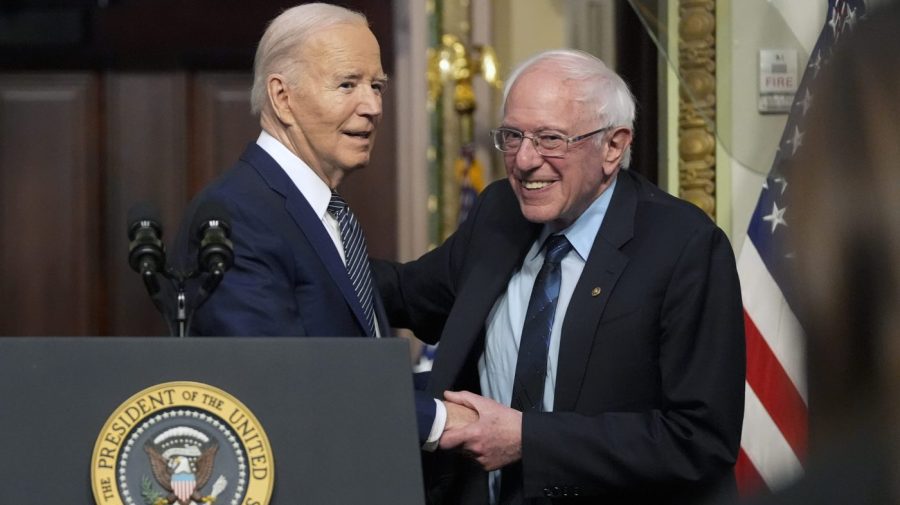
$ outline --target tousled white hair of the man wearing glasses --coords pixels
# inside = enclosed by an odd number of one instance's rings
[[[619,74],[610,70],[602,60],[576,49],[556,49],[538,53],[520,63],[506,79],[503,90],[503,109],[506,113],[506,99],[516,80],[529,69],[542,64],[552,64],[559,69],[563,78],[582,82],[582,92],[589,103],[596,105],[597,119],[605,126],[618,126],[634,130],[634,96]],[[598,138],[600,142],[602,137]],[[622,168],[631,164],[631,146],[622,155]]]

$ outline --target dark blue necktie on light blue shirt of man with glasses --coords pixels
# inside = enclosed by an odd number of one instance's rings
[[[565,235],[551,235],[544,242],[544,249],[544,265],[534,279],[531,299],[525,312],[510,402],[512,408],[522,412],[544,410],[547,352],[550,349],[550,331],[553,329],[562,277],[560,262],[572,250],[572,244]],[[522,462],[517,461],[504,467],[500,475],[499,503],[501,505],[525,503],[522,496]]]

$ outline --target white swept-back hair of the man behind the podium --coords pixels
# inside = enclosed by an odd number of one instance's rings
[[[337,5],[311,3],[291,7],[269,23],[253,61],[250,109],[254,114],[258,115],[266,102],[266,78],[281,73],[293,80],[299,70],[294,50],[315,31],[340,24],[368,27],[369,21],[363,14]]]

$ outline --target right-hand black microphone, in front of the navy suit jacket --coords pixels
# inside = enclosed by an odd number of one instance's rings
[[[200,240],[197,263],[201,272],[221,277],[234,265],[234,246],[231,236],[231,220],[228,210],[217,201],[209,200],[197,209],[194,224],[196,236]],[[216,282],[218,284],[218,281]]]

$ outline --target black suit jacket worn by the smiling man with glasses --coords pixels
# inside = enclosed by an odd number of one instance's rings
[[[499,181],[441,247],[376,264],[391,323],[441,342],[434,395],[479,391],[486,318],[539,232]],[[563,321],[554,411],[523,416],[525,496],[633,504],[733,492],[744,368],[727,238],[695,206],[620,172]],[[433,502],[487,502],[473,462],[439,453],[428,466]]]

